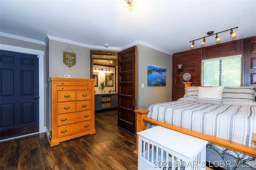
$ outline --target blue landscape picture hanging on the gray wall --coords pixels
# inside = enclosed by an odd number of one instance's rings
[[[166,86],[166,67],[148,64],[148,86]]]

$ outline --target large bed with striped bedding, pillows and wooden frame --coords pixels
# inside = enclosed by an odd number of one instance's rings
[[[177,130],[209,141],[206,161],[214,166],[256,169],[254,87],[187,87],[185,91],[178,101],[135,110],[137,132],[154,125]]]

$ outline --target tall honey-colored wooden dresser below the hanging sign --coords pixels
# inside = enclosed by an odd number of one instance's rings
[[[95,79],[50,77],[50,146],[96,133]]]

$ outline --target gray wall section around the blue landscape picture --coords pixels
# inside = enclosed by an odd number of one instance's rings
[[[171,101],[172,56],[144,45],[137,46],[137,109],[148,109],[154,103]],[[166,67],[166,86],[148,86],[148,64]]]

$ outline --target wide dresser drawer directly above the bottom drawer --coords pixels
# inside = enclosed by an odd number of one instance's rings
[[[91,111],[83,111],[76,113],[66,113],[57,115],[57,126],[69,125],[82,121],[91,120]]]

